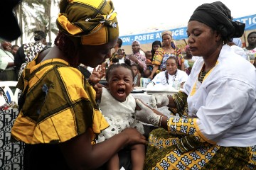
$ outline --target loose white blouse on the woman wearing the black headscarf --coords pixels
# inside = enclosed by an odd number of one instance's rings
[[[188,114],[207,140],[225,147],[256,145],[256,69],[228,45],[203,83],[203,60],[193,64],[182,91],[188,94]]]

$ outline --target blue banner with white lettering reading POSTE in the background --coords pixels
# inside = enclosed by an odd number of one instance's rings
[[[252,16],[245,16],[241,18],[234,18],[233,21],[239,21],[241,23],[245,23],[245,30],[254,30],[256,29],[256,14]],[[174,40],[182,40],[188,38],[186,34],[186,27],[171,29],[172,37]],[[161,41],[161,32],[152,32],[152,33],[143,33],[136,35],[124,35],[119,38],[122,39],[122,45],[132,45],[134,40],[138,40],[141,44],[152,43],[155,40]]]

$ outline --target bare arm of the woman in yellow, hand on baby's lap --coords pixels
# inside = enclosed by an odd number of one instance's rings
[[[60,144],[60,149],[70,169],[97,169],[126,145],[144,144],[146,138],[134,128],[99,144],[91,145],[90,129],[72,140]]]

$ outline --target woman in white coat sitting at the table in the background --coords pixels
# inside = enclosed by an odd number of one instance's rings
[[[174,82],[178,82],[178,84],[181,84],[181,88],[183,88],[183,84],[186,82],[187,79],[188,74],[178,69],[177,58],[171,56],[166,60],[166,70],[163,72],[159,72],[159,74],[156,74],[152,81],[155,84],[161,83],[165,86],[174,86]]]

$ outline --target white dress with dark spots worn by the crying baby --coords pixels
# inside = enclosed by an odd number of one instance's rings
[[[124,102],[120,102],[113,98],[110,91],[102,87],[99,107],[110,126],[100,133],[97,142],[107,140],[125,128],[137,128],[144,134],[142,123],[135,118],[136,101],[132,95],[127,96]]]

